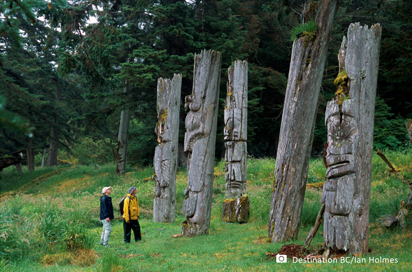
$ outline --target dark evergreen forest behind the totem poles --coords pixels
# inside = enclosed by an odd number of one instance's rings
[[[182,75],[194,53],[222,53],[220,90],[234,60],[249,62],[248,156],[276,156],[293,35],[305,1],[2,1],[0,155],[32,146],[34,164],[115,162],[120,113],[130,109],[127,164],[152,164],[156,84]],[[340,1],[317,108],[312,156],[323,154],[336,53],[350,23],[382,25],[374,149],[409,144],[412,118],[410,1]],[[295,34],[293,34],[295,33]],[[128,88],[125,88],[125,82]],[[216,159],[224,157],[220,92]],[[184,103],[180,125],[184,127]],[[179,132],[183,149],[184,129]],[[48,155],[48,156],[47,156]],[[185,166],[185,160],[180,160]],[[23,162],[26,164],[27,162]]]

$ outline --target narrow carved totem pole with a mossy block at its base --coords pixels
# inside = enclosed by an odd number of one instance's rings
[[[225,105],[225,180],[226,197],[222,221],[247,222],[249,197],[246,195],[247,175],[247,62],[236,60],[228,71]]]

